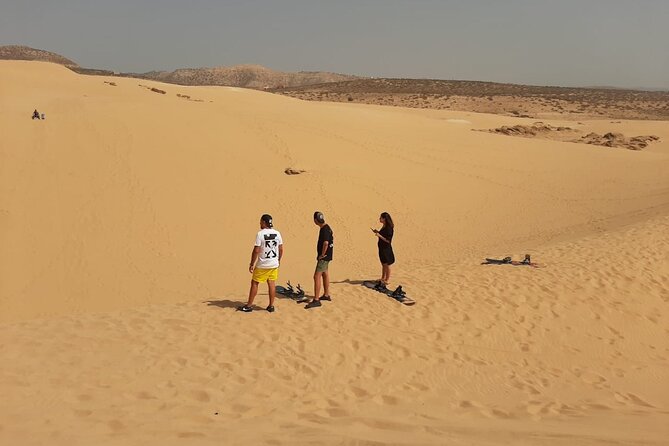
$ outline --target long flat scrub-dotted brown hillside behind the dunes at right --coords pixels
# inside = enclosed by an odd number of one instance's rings
[[[308,101],[472,111],[525,118],[669,120],[669,92],[436,79],[356,79],[272,89]]]

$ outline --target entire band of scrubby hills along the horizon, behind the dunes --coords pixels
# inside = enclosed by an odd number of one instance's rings
[[[451,109],[516,117],[669,119],[669,92],[614,87],[567,88],[438,79],[364,78],[321,71],[283,72],[260,65],[118,73],[80,67],[59,54],[27,46],[0,46],[0,59],[65,65],[87,75],[121,76],[178,85],[255,88],[310,101],[358,102]]]

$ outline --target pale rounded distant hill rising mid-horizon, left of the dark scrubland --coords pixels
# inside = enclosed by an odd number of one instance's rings
[[[123,73],[132,77],[151,79],[179,85],[228,85],[234,87],[275,89],[303,87],[329,82],[358,79],[356,76],[322,71],[288,73],[260,65],[236,65],[215,68],[182,68],[175,71]]]

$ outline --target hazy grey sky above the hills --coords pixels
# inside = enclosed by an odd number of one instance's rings
[[[0,0],[0,45],[116,71],[669,88],[669,0]]]

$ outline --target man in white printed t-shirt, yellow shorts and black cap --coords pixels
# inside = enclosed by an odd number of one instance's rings
[[[283,257],[283,239],[279,231],[273,228],[272,216],[263,214],[260,217],[260,231],[256,235],[256,242],[251,252],[249,272],[251,289],[246,305],[238,308],[239,311],[250,313],[253,311],[253,299],[258,294],[258,284],[267,282],[269,289],[269,306],[267,311],[274,312],[274,298],[276,297],[276,280],[279,278],[279,264]]]

